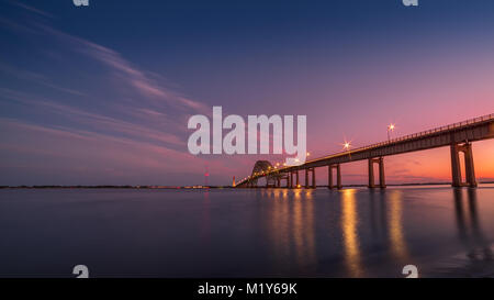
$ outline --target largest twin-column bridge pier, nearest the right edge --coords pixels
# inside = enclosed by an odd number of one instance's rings
[[[471,187],[475,188],[478,186],[475,179],[475,168],[473,166],[473,151],[472,144],[467,142],[463,145],[451,144],[451,179],[452,187]],[[463,182],[461,178],[461,166],[460,166],[460,152],[464,156],[464,171],[467,181]]]

